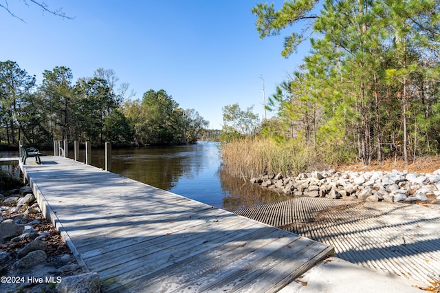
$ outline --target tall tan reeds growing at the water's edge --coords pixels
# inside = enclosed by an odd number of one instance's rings
[[[223,168],[230,175],[250,178],[263,173],[298,173],[322,167],[314,148],[271,138],[242,138],[223,144]]]

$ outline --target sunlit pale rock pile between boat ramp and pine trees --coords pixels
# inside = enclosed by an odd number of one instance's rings
[[[362,199],[369,202],[440,200],[440,169],[433,173],[407,171],[314,171],[296,177],[261,175],[251,182],[295,196]]]

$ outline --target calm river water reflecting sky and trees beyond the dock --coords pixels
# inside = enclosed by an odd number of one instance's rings
[[[254,186],[248,180],[225,174],[221,169],[217,142],[113,149],[111,153],[113,173],[217,208],[238,210],[287,199],[285,195]],[[45,154],[53,155],[50,152]],[[104,150],[92,149],[91,154],[91,164],[102,168]],[[73,151],[69,150],[69,157],[73,155]],[[42,161],[44,163],[44,157]],[[80,151],[80,161],[85,162],[84,151]]]

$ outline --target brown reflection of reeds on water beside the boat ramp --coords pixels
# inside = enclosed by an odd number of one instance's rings
[[[268,204],[280,202],[289,199],[287,195],[276,193],[268,188],[261,188],[252,184],[249,180],[228,175],[223,169],[219,169],[219,177],[223,194],[223,208],[225,210],[240,210],[258,206],[259,204]]]

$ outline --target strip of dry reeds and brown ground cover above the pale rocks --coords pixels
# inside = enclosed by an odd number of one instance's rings
[[[248,180],[264,174],[296,176],[300,173],[338,169],[344,171],[408,171],[432,173],[440,168],[439,155],[424,155],[406,164],[404,158],[388,158],[370,164],[344,160],[336,151],[317,152],[314,148],[302,148],[295,142],[280,144],[270,138],[241,138],[221,146],[223,170],[235,177]]]

